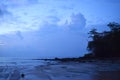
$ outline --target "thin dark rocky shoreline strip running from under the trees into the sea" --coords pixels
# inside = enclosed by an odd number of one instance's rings
[[[44,60],[44,61],[60,61],[60,62],[120,62],[119,57],[113,58],[52,58],[52,59],[32,59],[32,60]]]

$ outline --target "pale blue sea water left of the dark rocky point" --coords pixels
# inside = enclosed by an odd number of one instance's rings
[[[32,60],[32,58],[0,57],[0,66],[35,66],[44,64],[43,60]]]

